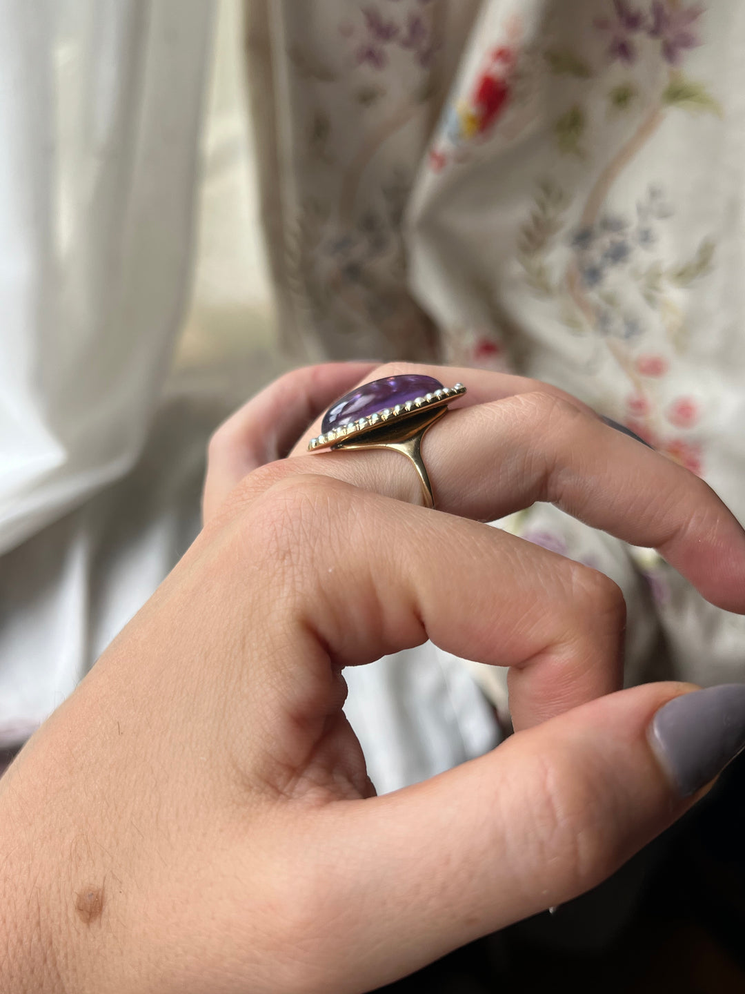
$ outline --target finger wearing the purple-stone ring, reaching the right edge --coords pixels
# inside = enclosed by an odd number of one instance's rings
[[[445,375],[436,367],[417,369]],[[707,600],[745,611],[745,532],[706,483],[560,391],[500,397],[512,378],[448,372],[463,376],[470,404],[442,418],[422,441],[438,510],[495,520],[548,501],[625,542],[657,549]],[[490,377],[496,377],[491,398]],[[534,381],[518,386],[527,385]],[[394,452],[318,452],[293,468],[421,499],[412,467]]]

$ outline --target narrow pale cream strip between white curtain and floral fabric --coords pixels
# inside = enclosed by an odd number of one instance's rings
[[[204,375],[235,406],[287,369],[278,341],[249,118],[241,0],[218,0],[202,137],[194,289],[174,377]]]

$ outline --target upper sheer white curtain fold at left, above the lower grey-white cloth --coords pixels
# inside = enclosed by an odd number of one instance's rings
[[[0,552],[143,444],[190,275],[212,15],[0,4]]]

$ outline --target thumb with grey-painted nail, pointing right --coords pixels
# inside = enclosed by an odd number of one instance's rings
[[[327,836],[338,848],[325,893],[355,910],[335,935],[350,950],[341,968],[354,975],[367,957],[377,986],[612,874],[745,745],[745,686],[693,690],[600,698],[424,783],[329,812],[340,824]]]

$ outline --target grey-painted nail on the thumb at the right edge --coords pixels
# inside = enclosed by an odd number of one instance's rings
[[[650,740],[680,794],[694,794],[745,748],[745,684],[674,698],[655,715]]]

